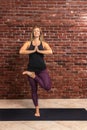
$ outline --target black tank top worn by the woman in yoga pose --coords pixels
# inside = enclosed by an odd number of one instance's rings
[[[30,44],[28,50],[34,50],[35,46]],[[44,50],[42,43],[38,46],[39,50]],[[40,72],[46,69],[46,64],[44,62],[44,55],[38,52],[34,52],[29,54],[29,63],[28,63],[28,71]]]

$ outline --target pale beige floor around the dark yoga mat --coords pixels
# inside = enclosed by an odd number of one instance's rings
[[[87,99],[39,99],[39,106],[87,110]],[[0,108],[34,108],[34,105],[31,99],[3,99]],[[0,130],[87,130],[87,121],[0,121]]]

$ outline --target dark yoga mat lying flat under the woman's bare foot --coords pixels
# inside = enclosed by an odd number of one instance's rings
[[[34,116],[35,109],[0,109],[0,121],[55,121],[55,120],[87,120],[84,108],[41,108],[40,117]]]

